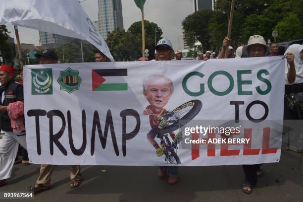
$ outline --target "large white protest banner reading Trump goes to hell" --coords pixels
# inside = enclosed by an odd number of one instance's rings
[[[25,66],[30,160],[56,165],[278,162],[284,65],[280,57],[266,57]],[[177,140],[180,131],[182,140]],[[164,155],[158,157],[156,148]]]

